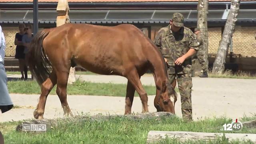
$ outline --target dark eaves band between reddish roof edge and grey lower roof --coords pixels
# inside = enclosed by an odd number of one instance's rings
[[[39,10],[56,10],[57,2],[39,2]],[[196,10],[198,2],[69,2],[70,10]],[[230,8],[230,2],[209,2],[209,10]],[[255,1],[241,1],[240,9],[255,9]],[[1,2],[1,10],[32,10],[32,2]]]

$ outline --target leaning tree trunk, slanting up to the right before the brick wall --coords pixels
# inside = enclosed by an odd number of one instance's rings
[[[228,18],[225,24],[224,32],[222,34],[222,39],[219,44],[217,56],[213,63],[212,73],[222,74],[225,70],[225,59],[228,53],[230,40],[234,33],[234,28],[237,20],[236,16],[238,15],[239,6],[240,0],[231,0],[230,11],[228,13]]]

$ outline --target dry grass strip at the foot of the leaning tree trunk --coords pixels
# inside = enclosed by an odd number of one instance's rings
[[[242,79],[256,79],[256,74],[250,74],[248,72],[232,72],[232,70],[225,70],[223,74],[214,74],[209,71],[208,77],[210,78],[242,78]]]

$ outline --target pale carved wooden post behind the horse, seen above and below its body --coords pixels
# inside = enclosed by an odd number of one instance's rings
[[[68,6],[68,0],[59,0],[58,6],[57,6],[57,20],[56,20],[56,26],[61,26],[62,24],[70,23],[68,12],[69,12],[69,6]],[[72,84],[76,81],[75,76],[75,68],[70,68],[69,70],[69,76],[68,76],[68,84]]]

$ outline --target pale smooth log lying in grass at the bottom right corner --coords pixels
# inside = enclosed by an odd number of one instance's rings
[[[149,131],[147,137],[147,144],[158,142],[168,138],[178,138],[180,141],[186,140],[213,140],[217,136],[222,137],[223,133],[210,133],[210,132],[182,132],[182,131]],[[225,133],[225,137],[228,140],[251,140],[256,142],[256,134],[235,134]]]

